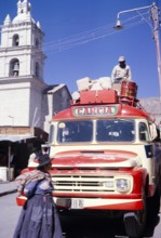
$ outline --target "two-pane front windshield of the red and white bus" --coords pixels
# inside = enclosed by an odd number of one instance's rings
[[[57,127],[57,142],[132,142],[134,141],[134,120],[98,119],[61,121]]]

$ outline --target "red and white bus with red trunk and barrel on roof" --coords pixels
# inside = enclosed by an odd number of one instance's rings
[[[120,92],[80,91],[53,117],[49,141],[57,208],[121,215],[133,238],[143,235],[148,212],[158,213],[161,183],[157,127],[136,93],[136,83],[125,81]]]

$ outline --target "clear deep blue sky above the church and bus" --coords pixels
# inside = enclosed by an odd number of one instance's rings
[[[159,96],[156,43],[146,9],[120,15],[122,30],[113,29],[120,11],[150,5],[151,0],[29,0],[33,19],[44,32],[44,81],[65,83],[111,75],[124,55],[138,85],[138,97]],[[156,1],[161,9],[161,1]],[[16,16],[17,0],[0,0],[0,24]],[[161,27],[160,27],[161,28]],[[161,37],[160,37],[161,39]]]

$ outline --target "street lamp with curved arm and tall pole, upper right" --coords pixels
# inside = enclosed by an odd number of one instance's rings
[[[130,9],[125,11],[121,11],[117,15],[117,24],[115,26],[116,29],[122,29],[122,25],[120,22],[120,15],[129,12],[137,12],[139,10],[149,9],[151,13],[151,19],[153,25],[153,39],[156,42],[156,49],[157,49],[157,64],[158,64],[158,77],[159,77],[159,91],[160,91],[160,103],[161,103],[161,53],[160,53],[160,41],[159,41],[159,9],[156,5],[156,3],[152,3],[151,5],[138,8],[138,9]]]

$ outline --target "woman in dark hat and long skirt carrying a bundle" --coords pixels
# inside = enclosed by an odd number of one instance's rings
[[[49,171],[52,160],[49,155],[39,158],[35,171],[17,176],[18,196],[27,197],[13,238],[63,238],[62,227],[53,201],[52,178]]]

